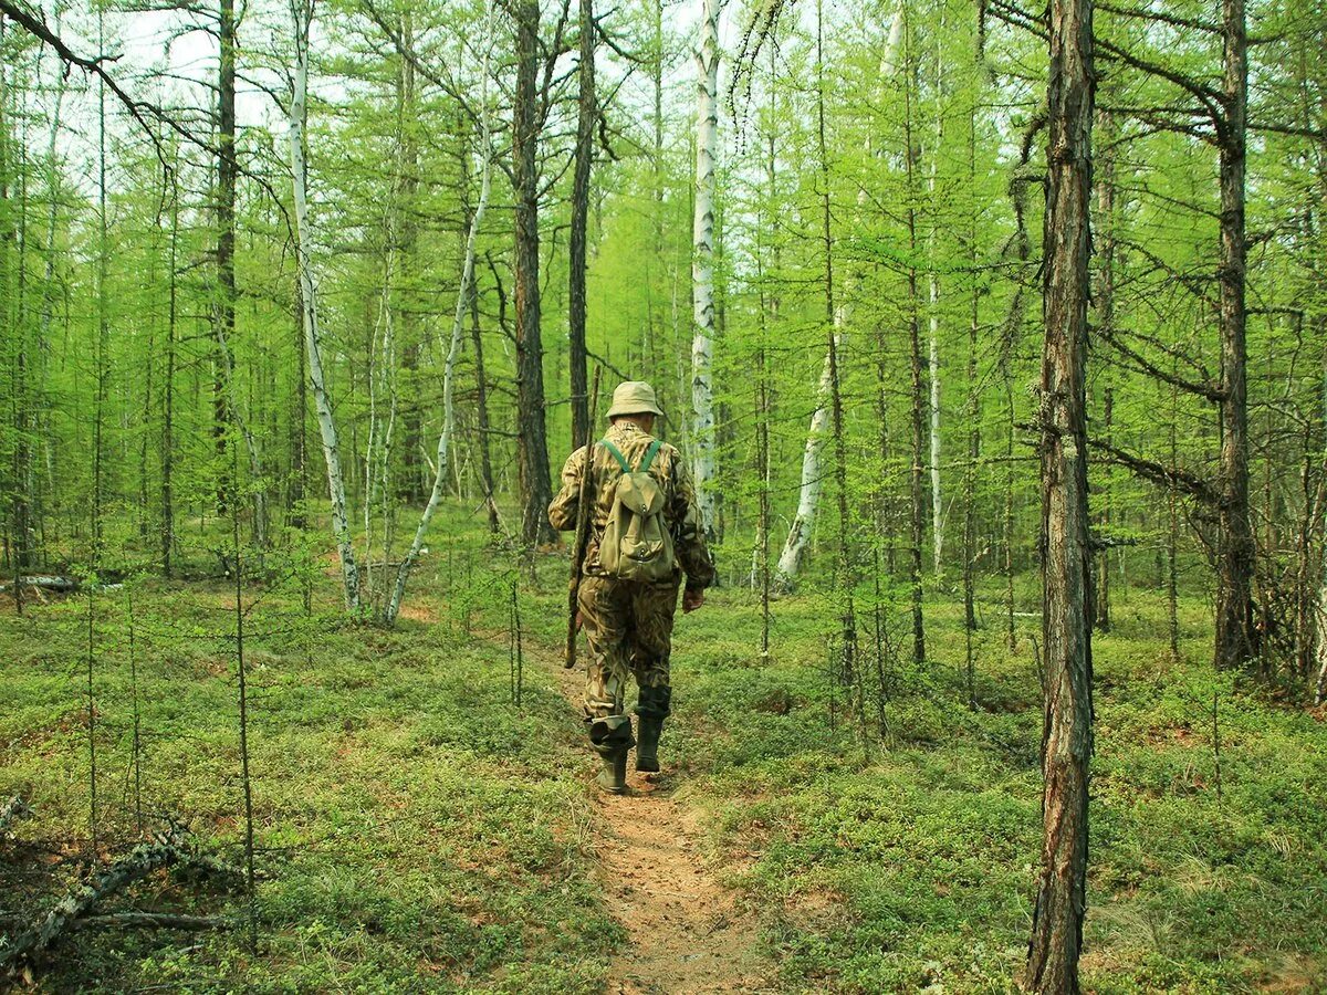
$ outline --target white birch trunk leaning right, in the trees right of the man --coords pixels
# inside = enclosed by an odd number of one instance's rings
[[[897,70],[898,45],[902,41],[902,11],[896,8],[893,20],[889,24],[889,40],[885,42],[885,54],[880,62],[881,80],[889,80]],[[857,192],[859,210],[867,200],[867,191]],[[844,280],[843,300],[835,308],[833,314],[833,345],[835,352],[841,356],[840,346],[844,341],[844,329],[852,314],[849,304],[856,273],[849,273]],[[775,569],[774,585],[779,590],[790,590],[811,545],[811,536],[815,532],[816,512],[820,508],[820,494],[824,490],[824,468],[820,455],[828,440],[829,430],[829,401],[833,389],[831,377],[832,362],[829,352],[825,350],[824,364],[820,369],[820,382],[816,386],[816,410],[811,415],[811,430],[807,432],[807,446],[802,452],[802,483],[798,487],[798,513],[788,528],[788,537],[783,543],[783,552],[779,553],[779,565]]]

